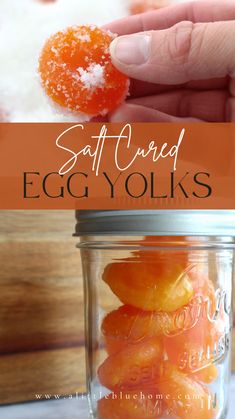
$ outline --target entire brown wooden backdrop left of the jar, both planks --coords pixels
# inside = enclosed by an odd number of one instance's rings
[[[85,391],[74,224],[73,211],[0,211],[0,404]]]

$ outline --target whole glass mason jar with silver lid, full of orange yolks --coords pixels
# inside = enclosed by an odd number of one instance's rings
[[[87,391],[98,419],[228,409],[233,211],[82,211]]]

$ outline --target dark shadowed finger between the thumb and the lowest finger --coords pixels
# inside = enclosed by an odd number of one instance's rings
[[[229,94],[226,90],[177,90],[131,99],[128,104],[140,105],[180,118],[199,118],[208,122],[227,121]]]

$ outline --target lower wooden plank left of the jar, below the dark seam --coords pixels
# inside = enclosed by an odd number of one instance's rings
[[[15,353],[0,357],[0,403],[85,392],[84,348]]]

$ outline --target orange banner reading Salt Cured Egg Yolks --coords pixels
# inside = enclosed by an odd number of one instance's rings
[[[1,124],[1,209],[235,209],[235,124]]]

